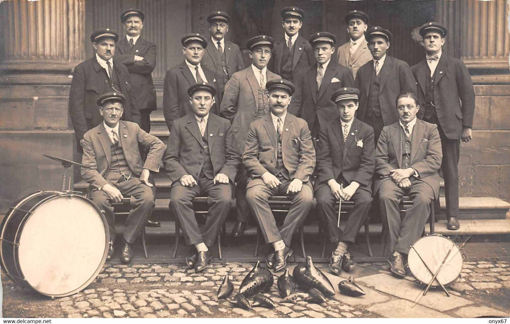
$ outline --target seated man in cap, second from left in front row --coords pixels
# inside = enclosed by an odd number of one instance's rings
[[[186,263],[202,271],[212,258],[210,247],[230,211],[232,185],[241,159],[230,121],[209,112],[215,85],[195,83],[188,94],[192,111],[172,122],[163,164],[173,181],[170,209],[179,218],[186,244],[196,248]],[[212,205],[200,231],[192,200],[201,194],[207,195]]]

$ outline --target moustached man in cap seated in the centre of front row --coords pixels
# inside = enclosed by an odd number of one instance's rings
[[[250,178],[246,201],[257,218],[266,243],[274,254],[266,257],[275,272],[287,266],[292,255],[292,234],[312,207],[310,176],[315,167],[315,149],[305,120],[287,113],[294,85],[287,80],[267,82],[271,113],[250,124],[244,154],[244,167]],[[278,231],[268,200],[274,195],[289,195],[292,206]]]

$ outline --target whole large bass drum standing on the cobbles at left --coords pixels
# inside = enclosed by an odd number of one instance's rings
[[[87,287],[108,255],[106,218],[88,198],[40,191],[23,198],[0,225],[0,262],[17,284],[51,297]]]

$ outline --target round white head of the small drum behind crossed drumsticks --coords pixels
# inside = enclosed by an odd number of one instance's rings
[[[418,251],[432,273],[436,273],[452,246],[448,259],[446,259],[436,277],[443,286],[452,284],[461,274],[464,261],[457,245],[449,238],[437,234],[424,236],[413,244],[413,247]],[[416,279],[428,285],[433,275],[427,270],[416,251],[411,248],[409,255],[407,255],[409,270]],[[437,287],[439,285],[434,281],[431,286]]]

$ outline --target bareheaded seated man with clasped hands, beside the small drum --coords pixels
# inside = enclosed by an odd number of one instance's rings
[[[405,276],[404,258],[410,246],[423,232],[430,214],[430,202],[439,196],[439,175],[443,157],[436,124],[416,118],[420,109],[413,93],[397,96],[400,120],[382,129],[375,153],[375,173],[379,176],[374,190],[379,207],[388,222],[391,272]],[[403,195],[413,206],[400,221],[398,208]]]

